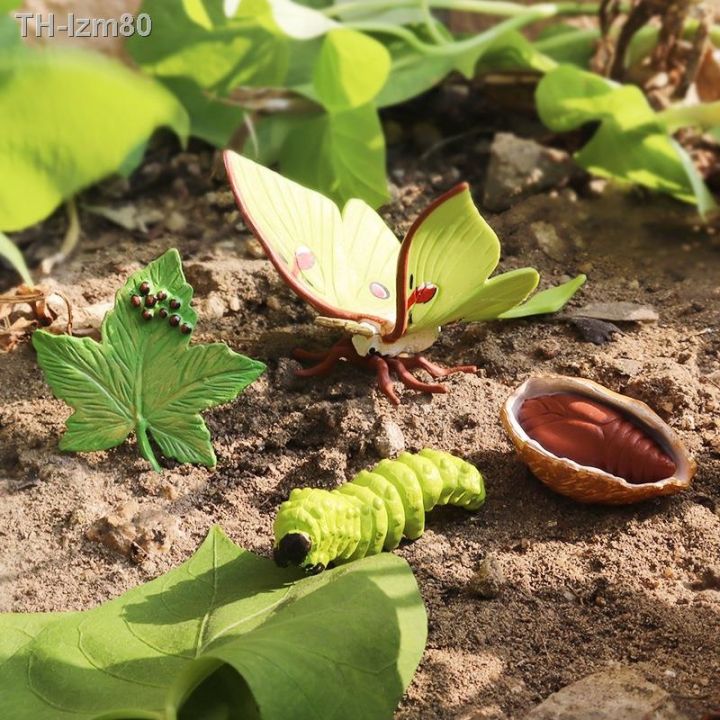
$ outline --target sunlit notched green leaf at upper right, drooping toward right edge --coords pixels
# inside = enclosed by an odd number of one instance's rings
[[[600,121],[575,156],[588,171],[668,193],[696,204],[701,214],[715,207],[696,168],[638,88],[562,65],[540,81],[535,98],[551,130],[566,132]]]

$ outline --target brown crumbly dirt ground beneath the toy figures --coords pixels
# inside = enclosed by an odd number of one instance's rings
[[[486,158],[482,142],[419,161],[391,154],[388,219],[405,230],[460,176],[480,199]],[[667,198],[597,194],[587,183],[486,213],[503,242],[501,269],[534,265],[546,284],[585,271],[573,307],[627,300],[653,305],[660,319],[623,324],[602,346],[562,317],[449,328],[429,357],[476,363],[478,374],[449,378],[447,395],[401,388],[394,408],[355,368],[294,378],[290,350],[334,337],[258,257],[211,169],[207,151],[160,152],[129,186],[90,193],[95,203],[159,210],[160,220],[145,234],[82,213],[80,249],[53,280],[78,308],[110,301],[129,273],[177,247],[196,290],[196,341],[224,340],[268,371],[206,414],[214,472],[169,464],[158,476],[132,443],[60,453],[69,411],[32,348],[0,356],[0,610],[93,606],[186,559],[213,523],[267,555],[289,490],[332,487],[378,461],[392,421],[407,449],[439,447],[475,463],[488,495],[476,514],[434,512],[425,535],[397,551],[416,573],[430,623],[398,718],[519,718],[612,663],[664,687],[688,717],[720,706],[720,236]],[[556,231],[551,246],[539,239],[543,223]],[[25,233],[29,256],[48,254],[63,227],[60,213]],[[697,459],[692,487],[627,508],[586,507],[546,489],[498,420],[510,391],[543,373],[588,377],[657,409]],[[98,518],[131,500],[177,519],[167,553],[129,559],[87,539]],[[467,584],[489,553],[505,583],[479,599]]]

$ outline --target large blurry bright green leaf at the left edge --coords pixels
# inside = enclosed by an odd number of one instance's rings
[[[84,187],[127,170],[156,128],[181,138],[189,129],[165,88],[78,50],[0,52],[0,105],[2,230],[32,225]]]

